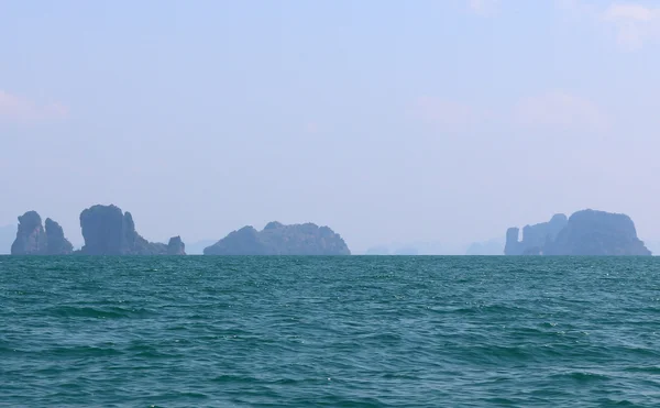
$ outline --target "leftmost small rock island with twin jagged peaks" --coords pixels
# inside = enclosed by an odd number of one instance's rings
[[[50,218],[46,229],[36,211],[28,211],[19,217],[16,239],[11,245],[12,255],[67,255],[74,251],[72,243],[64,238],[62,227]]]

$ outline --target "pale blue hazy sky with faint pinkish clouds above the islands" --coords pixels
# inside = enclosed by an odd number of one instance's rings
[[[660,3],[0,0],[0,225],[316,222],[354,252],[584,208],[660,240]]]

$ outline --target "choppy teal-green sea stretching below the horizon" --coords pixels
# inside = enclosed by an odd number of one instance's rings
[[[0,257],[2,407],[659,407],[660,258]]]

